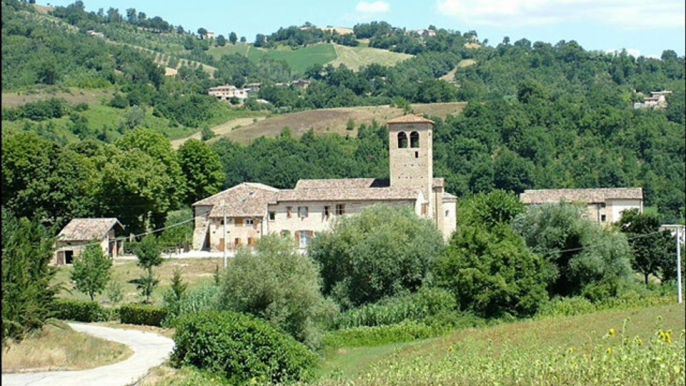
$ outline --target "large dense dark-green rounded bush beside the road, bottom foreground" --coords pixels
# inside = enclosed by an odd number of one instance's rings
[[[231,383],[308,380],[317,356],[255,317],[209,311],[182,318],[174,334],[173,363],[221,374]]]

